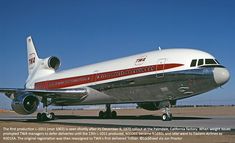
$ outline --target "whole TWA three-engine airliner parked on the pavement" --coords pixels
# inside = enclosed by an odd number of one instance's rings
[[[164,109],[163,121],[172,120],[176,101],[221,87],[229,71],[211,54],[196,49],[160,49],[74,69],[57,71],[55,56],[38,57],[32,37],[27,41],[28,78],[24,88],[1,88],[18,114],[44,111],[37,120],[54,120],[47,107],[105,105],[99,117],[116,118],[111,104],[136,103],[146,110]],[[89,58],[89,57],[88,57]]]

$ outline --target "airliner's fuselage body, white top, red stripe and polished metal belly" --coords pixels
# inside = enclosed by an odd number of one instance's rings
[[[197,60],[196,66],[191,66],[193,59]],[[202,65],[198,65],[199,59],[203,59]],[[226,69],[217,62],[206,64],[206,59],[215,61],[212,55],[193,49],[151,51],[56,72],[35,79],[26,87],[46,90],[92,87],[104,94],[99,97],[88,95],[76,102],[63,98],[55,101],[55,105],[177,100],[209,91],[226,82],[216,83],[217,75],[214,74],[217,68]],[[201,85],[207,83],[210,83],[208,87]]]

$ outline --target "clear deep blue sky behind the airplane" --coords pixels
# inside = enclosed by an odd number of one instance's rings
[[[235,104],[234,0],[1,0],[0,87],[24,86],[30,35],[40,57],[60,58],[60,70],[158,46],[209,52],[230,81],[178,104]],[[1,96],[0,108],[9,105]]]

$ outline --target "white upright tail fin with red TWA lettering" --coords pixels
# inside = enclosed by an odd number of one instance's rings
[[[27,53],[28,53],[28,74],[30,76],[37,67],[39,61],[38,54],[34,47],[31,36],[27,37]]]

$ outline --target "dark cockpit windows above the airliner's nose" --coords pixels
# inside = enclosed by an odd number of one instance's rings
[[[218,65],[219,62],[216,59],[193,59],[190,67],[201,66],[201,65]]]

